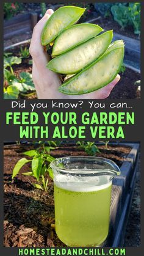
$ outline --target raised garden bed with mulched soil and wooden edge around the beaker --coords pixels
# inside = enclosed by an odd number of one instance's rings
[[[53,182],[49,179],[48,192],[34,189],[33,177],[19,174],[12,181],[12,170],[23,152],[34,145],[4,146],[4,246],[61,246],[65,247],[54,230]],[[121,169],[113,180],[110,232],[105,246],[122,246],[126,222],[131,208],[137,172],[139,144],[109,144],[98,146],[103,156],[115,161]],[[73,144],[62,144],[51,151],[54,157],[87,155]],[[28,164],[29,166],[29,164]],[[24,166],[23,171],[29,171]],[[137,224],[135,225],[137,229]],[[129,234],[131,236],[131,234]]]

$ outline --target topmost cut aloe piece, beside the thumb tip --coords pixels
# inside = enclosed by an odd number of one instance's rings
[[[48,45],[68,26],[75,24],[84,13],[85,8],[63,6],[48,19],[41,34],[41,44]]]

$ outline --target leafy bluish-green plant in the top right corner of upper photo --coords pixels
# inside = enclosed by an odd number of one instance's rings
[[[128,6],[123,4],[113,5],[111,12],[114,20],[120,24],[121,29],[132,26],[134,33],[140,34],[140,2],[129,3]]]

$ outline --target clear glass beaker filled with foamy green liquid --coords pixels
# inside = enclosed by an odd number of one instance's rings
[[[120,169],[95,156],[57,158],[51,168],[57,236],[67,246],[100,246],[109,232],[112,179]]]

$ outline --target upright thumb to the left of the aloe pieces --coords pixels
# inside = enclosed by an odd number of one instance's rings
[[[41,45],[41,32],[45,26],[46,21],[49,19],[53,12],[54,11],[52,9],[48,9],[46,11],[43,18],[41,18],[41,20],[38,21],[37,25],[34,27],[32,34],[29,52],[35,62],[35,65],[39,67],[45,67],[49,59],[48,54],[45,52],[43,46]]]

